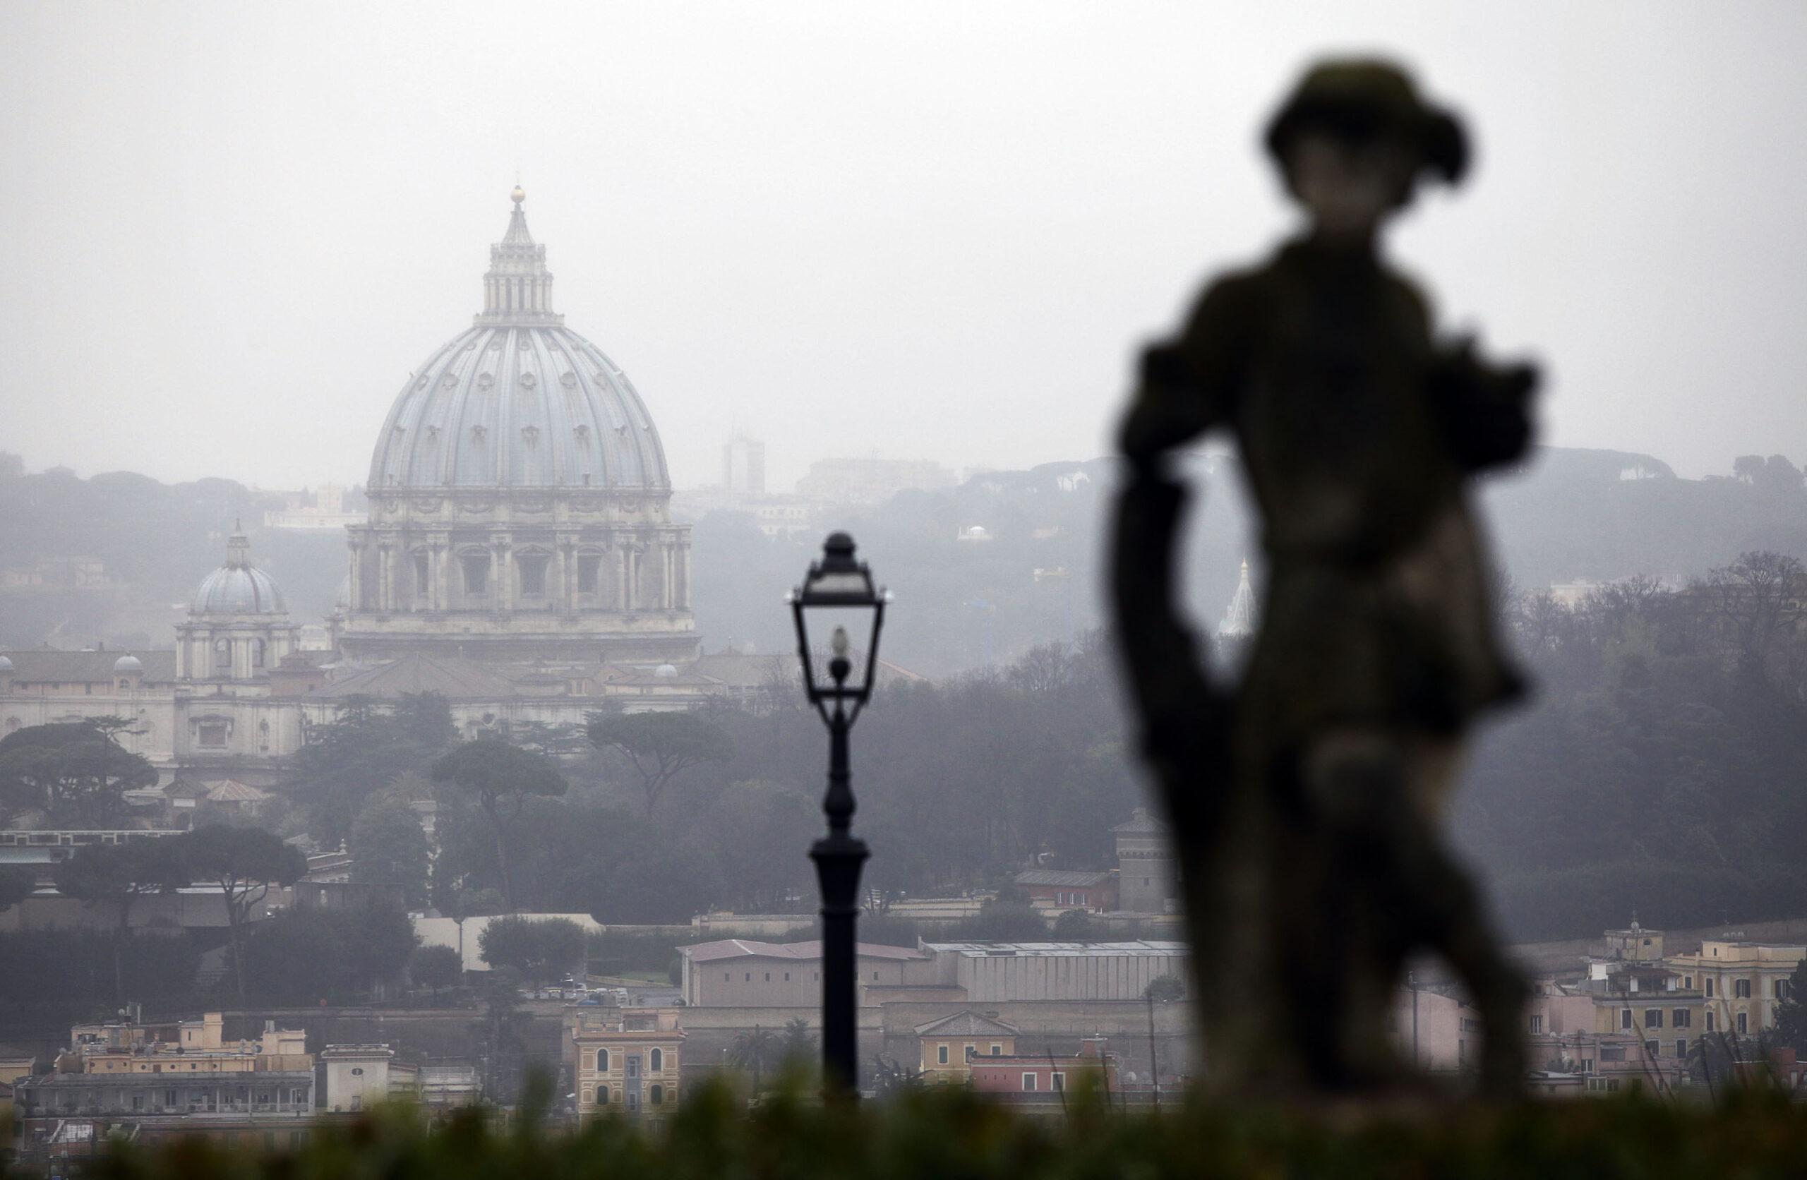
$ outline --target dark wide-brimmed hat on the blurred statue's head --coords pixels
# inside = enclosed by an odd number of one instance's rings
[[[1388,61],[1350,58],[1306,70],[1267,125],[1267,150],[1285,164],[1294,136],[1325,130],[1350,139],[1399,137],[1415,146],[1422,166],[1449,184],[1469,161],[1462,121],[1426,103],[1406,70]]]

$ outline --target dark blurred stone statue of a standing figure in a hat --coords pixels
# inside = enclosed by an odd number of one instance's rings
[[[1409,1082],[1393,1012],[1406,961],[1429,952],[1478,1008],[1482,1084],[1509,1093],[1525,988],[1440,822],[1469,721],[1521,692],[1465,484],[1529,446],[1536,374],[1435,340],[1424,295],[1379,255],[1418,181],[1455,184],[1467,164],[1462,125],[1411,78],[1317,65],[1267,150],[1308,224],[1211,282],[1144,354],[1113,540],[1119,640],[1180,844],[1205,1073],[1269,1093]],[[1211,683],[1173,589],[1185,492],[1166,455],[1209,430],[1241,452],[1267,555],[1236,690]]]

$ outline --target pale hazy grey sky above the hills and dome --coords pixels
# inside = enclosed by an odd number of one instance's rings
[[[1381,49],[1480,166],[1395,255],[1549,441],[1807,459],[1807,4],[0,7],[0,448],[361,482],[519,168],[676,481],[1100,454],[1131,349],[1288,213],[1256,134]]]

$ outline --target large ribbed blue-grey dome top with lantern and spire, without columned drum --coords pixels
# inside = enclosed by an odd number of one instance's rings
[[[670,490],[640,394],[551,311],[520,197],[490,249],[484,311],[396,396],[369,486]]]

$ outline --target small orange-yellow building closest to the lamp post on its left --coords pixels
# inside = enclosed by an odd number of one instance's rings
[[[578,1119],[618,1113],[663,1122],[678,1106],[683,1035],[678,1008],[567,1008]]]

